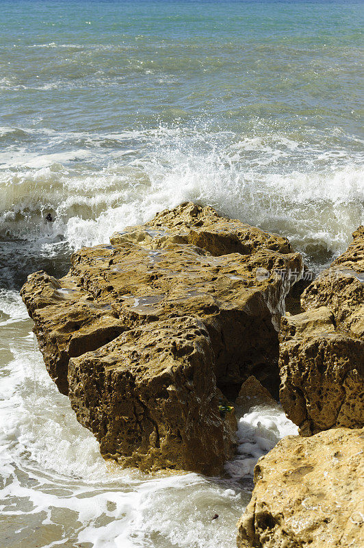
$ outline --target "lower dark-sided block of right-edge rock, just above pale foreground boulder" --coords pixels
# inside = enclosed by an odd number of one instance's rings
[[[280,397],[300,434],[364,421],[364,341],[335,327],[326,307],[283,318]]]

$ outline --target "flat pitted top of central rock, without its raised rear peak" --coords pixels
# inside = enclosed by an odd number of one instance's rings
[[[270,250],[216,257],[180,244],[149,251],[126,242],[122,247],[83,248],[73,255],[72,265],[73,279],[99,303],[112,303],[118,313],[124,309],[159,316],[175,308],[179,314],[200,308],[204,316],[218,308],[245,306],[257,291],[269,293],[277,277],[272,273],[259,279],[257,269],[300,269],[301,258]]]

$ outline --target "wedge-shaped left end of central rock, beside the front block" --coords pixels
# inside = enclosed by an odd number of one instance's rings
[[[109,343],[124,331],[122,322],[68,277],[58,281],[44,272],[31,274],[21,296],[47,371],[67,395],[68,360]]]

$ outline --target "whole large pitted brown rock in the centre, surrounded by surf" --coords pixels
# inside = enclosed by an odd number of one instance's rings
[[[219,397],[235,399],[250,375],[278,393],[278,323],[300,254],[187,203],[71,264],[60,280],[31,275],[22,296],[79,421],[125,466],[216,473],[234,445]]]

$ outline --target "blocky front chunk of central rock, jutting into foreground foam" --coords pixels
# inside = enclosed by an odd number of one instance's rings
[[[219,473],[235,432],[219,412],[212,362],[203,323],[148,323],[72,358],[70,401],[101,453],[123,466]]]

